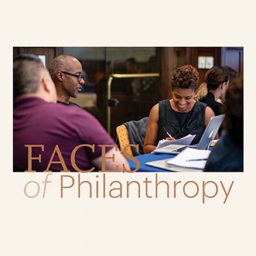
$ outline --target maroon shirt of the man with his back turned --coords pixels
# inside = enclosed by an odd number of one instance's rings
[[[53,161],[62,156],[69,171],[75,171],[71,163],[72,151],[81,144],[95,144],[95,151],[80,147],[75,162],[80,170],[90,170],[92,160],[101,156],[99,145],[115,145],[98,120],[87,111],[74,107],[46,102],[41,98],[20,98],[14,101],[13,110],[13,168],[14,171],[28,170],[28,147],[32,148],[32,170],[43,171],[54,155]],[[61,156],[57,154],[56,145]],[[107,147],[106,151],[111,147]],[[51,171],[63,170],[60,163],[52,163]]]

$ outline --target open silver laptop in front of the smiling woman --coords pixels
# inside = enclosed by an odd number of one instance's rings
[[[212,117],[204,130],[204,133],[197,145],[176,145],[171,144],[166,147],[159,148],[154,150],[154,153],[165,153],[165,154],[179,154],[182,150],[187,147],[196,148],[196,149],[204,149],[207,150],[210,143],[216,136],[218,132],[218,128],[220,127],[223,119],[225,118],[225,114]]]

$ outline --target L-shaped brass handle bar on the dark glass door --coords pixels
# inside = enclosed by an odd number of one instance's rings
[[[110,124],[111,124],[111,106],[110,106],[110,100],[111,100],[111,83],[112,80],[119,79],[119,78],[152,78],[152,77],[159,77],[159,73],[142,73],[142,74],[111,74],[108,78],[107,83],[107,131],[110,134]]]

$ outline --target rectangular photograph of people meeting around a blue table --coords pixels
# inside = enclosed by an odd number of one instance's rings
[[[14,172],[243,172],[243,47],[13,56]]]

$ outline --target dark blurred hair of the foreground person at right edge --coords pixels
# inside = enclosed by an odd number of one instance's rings
[[[226,117],[224,128],[230,138],[239,145],[243,144],[243,78],[233,79],[229,84],[225,99]]]

